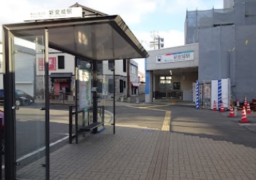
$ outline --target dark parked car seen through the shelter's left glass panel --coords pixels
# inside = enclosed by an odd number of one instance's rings
[[[0,103],[4,103],[4,90],[0,90]],[[15,106],[34,103],[34,98],[22,90],[15,90]]]

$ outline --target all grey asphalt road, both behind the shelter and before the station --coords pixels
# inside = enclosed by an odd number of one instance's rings
[[[113,112],[113,107],[106,107],[106,109]],[[50,107],[50,143],[68,136],[68,114],[68,106]],[[125,103],[116,106],[116,125],[162,130],[167,122],[168,130],[175,133],[230,141],[233,144],[244,144],[244,146],[255,148],[256,114],[249,117],[252,120],[250,128],[238,123],[239,116],[232,119],[227,115],[227,112],[197,110],[194,106],[178,106],[171,103],[160,105]],[[35,109],[34,106],[23,106],[18,110],[16,122],[18,159],[24,159],[24,155],[44,146],[45,122],[42,116],[42,111]],[[61,143],[51,146],[50,149],[51,151],[59,149],[67,143],[66,138]],[[31,155],[31,158],[26,157],[23,165],[41,156],[43,156],[43,151]]]

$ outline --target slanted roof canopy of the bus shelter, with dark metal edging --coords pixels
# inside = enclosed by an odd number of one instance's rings
[[[49,47],[86,60],[148,57],[119,15],[15,23],[3,28],[26,40],[30,40],[29,36],[43,35],[48,29]]]

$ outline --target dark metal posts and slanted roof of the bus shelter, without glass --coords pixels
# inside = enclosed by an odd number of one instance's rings
[[[5,179],[16,179],[15,175],[15,71],[13,70],[12,40],[15,36],[43,36],[45,44],[45,79],[48,80],[48,48],[67,52],[90,62],[148,58],[148,52],[132,34],[118,15],[104,17],[70,18],[15,23],[2,26],[4,58],[4,117],[5,123]],[[44,32],[44,34],[42,34]],[[29,40],[29,39],[26,39]],[[75,63],[75,62],[74,62]],[[48,81],[45,81],[48,82]],[[115,82],[115,79],[114,79]],[[49,88],[45,83],[45,179],[50,179],[49,151]],[[77,97],[77,95],[76,95]],[[97,98],[97,97],[94,97]],[[115,98],[113,98],[115,108]],[[94,104],[94,109],[97,109]],[[97,114],[97,113],[96,113]],[[114,110],[115,133],[115,110]]]

